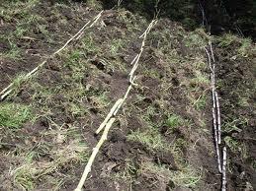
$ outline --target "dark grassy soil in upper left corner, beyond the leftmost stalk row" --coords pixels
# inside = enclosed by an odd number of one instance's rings
[[[25,17],[22,11],[11,20],[2,19],[0,51],[4,54],[10,53],[15,45],[19,49],[19,55],[14,58],[0,58],[0,91],[15,77],[37,67],[95,15],[94,11],[85,6],[77,11],[75,7],[53,6],[49,1],[37,3],[28,13],[39,17],[39,21],[20,24]],[[15,34],[19,28],[28,30],[20,36]]]

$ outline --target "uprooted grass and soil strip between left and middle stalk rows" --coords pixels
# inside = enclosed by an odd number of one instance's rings
[[[127,13],[115,14],[122,15],[118,20],[130,23]],[[74,174],[88,157],[88,140],[83,133],[95,123],[96,114],[99,118],[106,115],[113,101],[103,80],[114,71],[127,71],[122,56],[131,36],[138,36],[137,26],[129,28],[129,33],[122,27],[101,26],[102,32],[89,31],[81,41],[50,59],[30,81],[18,79],[17,91],[8,100],[30,102],[36,119],[28,118],[29,125],[12,134],[14,140],[19,138],[18,133],[24,136],[25,143],[19,142],[15,151],[4,153],[9,160],[19,158],[19,163],[11,165],[14,187],[60,190],[66,181],[77,180]],[[119,32],[125,34],[124,40],[113,35]],[[36,128],[32,131],[29,126]],[[6,132],[6,137],[10,136]]]

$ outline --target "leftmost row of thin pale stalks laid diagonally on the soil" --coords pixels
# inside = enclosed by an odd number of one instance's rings
[[[101,11],[95,18],[93,18],[91,21],[88,21],[78,32],[76,32],[73,36],[71,36],[63,46],[61,46],[58,50],[56,50],[55,52],[53,52],[50,56],[48,56],[45,60],[43,60],[43,62],[37,66],[36,68],[34,68],[31,72],[29,72],[27,75],[26,75],[26,78],[30,78],[33,74],[35,74],[37,71],[39,71],[40,68],[43,67],[43,65],[47,62],[47,60],[49,58],[52,58],[53,56],[55,56],[56,54],[58,54],[60,51],[62,51],[64,48],[66,48],[66,46],[71,42],[73,41],[75,38],[80,37],[81,34],[83,33],[83,31],[87,28],[87,26],[89,24],[91,24],[89,26],[89,28],[92,28],[95,23],[100,19],[101,15],[102,15],[103,11]],[[0,93],[0,100],[3,100],[6,96],[9,96],[12,92],[13,92],[13,86],[14,86],[14,83],[10,83],[10,85],[8,85],[8,87],[6,87],[1,93]]]

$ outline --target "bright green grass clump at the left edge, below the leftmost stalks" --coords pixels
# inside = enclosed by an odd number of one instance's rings
[[[28,105],[15,103],[0,105],[0,126],[20,128],[31,117],[32,112]]]

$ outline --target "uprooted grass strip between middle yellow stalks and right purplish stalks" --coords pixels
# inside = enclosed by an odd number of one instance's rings
[[[136,182],[141,183],[138,177],[146,176],[145,179],[154,180],[153,184],[165,185],[158,187],[159,190],[179,186],[197,188],[204,178],[204,169],[189,163],[186,155],[193,154],[186,151],[196,147],[191,146],[190,141],[195,139],[194,136],[202,135],[202,130],[211,135],[206,129],[204,116],[211,85],[207,61],[202,55],[209,36],[201,30],[188,35],[182,29],[171,33],[167,29],[155,29],[149,34],[150,48],[146,50],[150,56],[140,61],[138,72],[143,77],[138,80],[137,95],[129,102],[127,107],[130,108],[126,108],[126,114],[137,115],[143,127],[130,131],[127,137],[128,142],[140,143],[151,155],[159,152],[172,154],[178,170],[161,161],[148,159],[149,162],[145,162],[147,159],[143,159],[136,163],[127,159],[124,172],[115,176],[128,180],[131,187]],[[177,37],[180,35],[185,37],[180,39]]]

